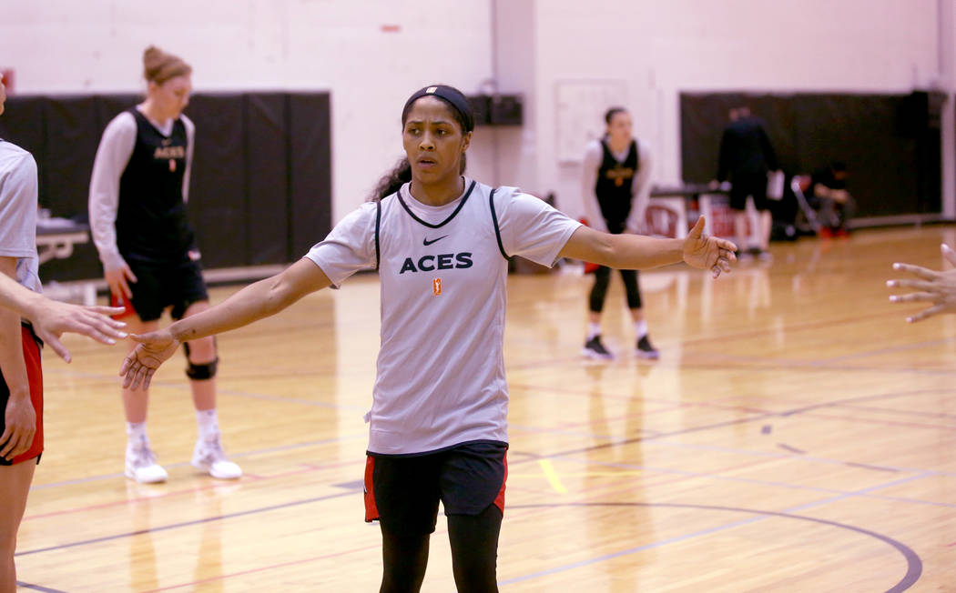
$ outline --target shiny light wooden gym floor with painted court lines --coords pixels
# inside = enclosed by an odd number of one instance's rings
[[[956,316],[907,325],[885,287],[892,262],[940,268],[954,240],[863,231],[774,244],[772,265],[717,281],[641,273],[654,363],[632,352],[617,276],[604,364],[579,356],[590,278],[512,276],[502,591],[956,590]],[[121,348],[48,352],[22,590],[378,590],[360,482],[378,330],[362,275],[219,338],[236,482],[188,465],[182,358],[150,407],[169,481],[138,485],[121,473]],[[424,591],[452,590],[442,518]]]

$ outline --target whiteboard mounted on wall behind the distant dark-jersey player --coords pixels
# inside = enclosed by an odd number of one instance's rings
[[[627,106],[623,80],[558,80],[555,83],[557,161],[580,162],[584,147],[604,134],[604,114]]]

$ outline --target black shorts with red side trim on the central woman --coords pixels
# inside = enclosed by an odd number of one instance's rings
[[[479,515],[491,504],[505,512],[508,443],[472,441],[414,455],[368,452],[365,520],[399,536],[435,531],[438,502],[445,515]]]

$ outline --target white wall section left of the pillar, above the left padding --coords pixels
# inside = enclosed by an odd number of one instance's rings
[[[401,156],[408,95],[489,78],[489,15],[488,0],[4,0],[0,69],[19,94],[137,92],[156,44],[196,91],[330,90],[337,221]]]

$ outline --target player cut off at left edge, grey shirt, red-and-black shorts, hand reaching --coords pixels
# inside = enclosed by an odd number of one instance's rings
[[[0,77],[0,114],[7,91]],[[43,298],[37,278],[36,162],[0,139],[0,593],[16,590],[13,552],[33,470],[43,453],[42,335],[69,362],[56,337],[78,331],[112,344],[123,324],[110,307],[76,307]],[[34,328],[23,314],[38,322]]]

